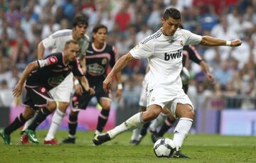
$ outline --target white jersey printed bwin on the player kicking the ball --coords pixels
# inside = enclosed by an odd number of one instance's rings
[[[149,62],[148,90],[164,88],[178,92],[182,89],[181,69],[184,45],[196,45],[201,42],[201,35],[179,29],[172,36],[161,33],[161,29],[142,40],[129,52],[135,59],[147,57]]]

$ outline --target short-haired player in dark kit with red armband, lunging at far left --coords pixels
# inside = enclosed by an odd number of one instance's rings
[[[63,52],[52,53],[43,60],[36,60],[27,65],[13,90],[14,96],[19,96],[26,81],[26,99],[23,102],[26,108],[13,123],[0,130],[6,145],[11,145],[11,133],[26,123],[36,110],[39,110],[38,114],[25,133],[32,142],[38,143],[35,132],[37,126],[58,106],[58,101],[53,100],[49,90],[58,86],[71,72],[78,77],[85,90],[92,90],[76,59],[78,51],[78,42],[70,40],[65,43]]]

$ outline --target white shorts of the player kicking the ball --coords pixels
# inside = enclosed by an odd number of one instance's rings
[[[162,108],[168,108],[174,118],[176,118],[175,111],[177,103],[188,104],[193,108],[191,100],[184,93],[183,89],[178,91],[178,94],[174,94],[174,91],[168,91],[166,89],[151,89],[147,91],[146,99],[146,106],[156,104]]]

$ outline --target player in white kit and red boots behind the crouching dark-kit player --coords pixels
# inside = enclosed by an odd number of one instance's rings
[[[89,36],[85,34],[87,31],[87,25],[87,19],[84,16],[75,17],[72,30],[58,30],[39,43],[38,59],[43,59],[43,54],[46,49],[51,50],[51,52],[61,52],[68,40],[77,40],[79,44],[78,58],[80,58],[82,71],[85,73],[85,54],[90,41]],[[54,139],[54,135],[58,130],[59,125],[62,123],[65,111],[70,104],[70,96],[73,91],[73,86],[73,73],[70,73],[60,85],[50,90],[50,94],[53,96],[53,99],[58,101],[58,106],[53,115],[52,123],[48,130],[48,134],[46,135],[44,144],[57,144],[57,140]],[[75,90],[78,92],[82,90],[79,82],[78,84],[75,84]],[[26,123],[23,130],[26,130],[32,121],[33,118]],[[21,143],[28,143],[28,137],[26,134],[21,135]]]

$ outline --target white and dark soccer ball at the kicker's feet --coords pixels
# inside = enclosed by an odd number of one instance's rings
[[[163,137],[154,143],[154,154],[156,154],[156,157],[170,158],[175,150],[176,145],[174,141],[169,138]]]

